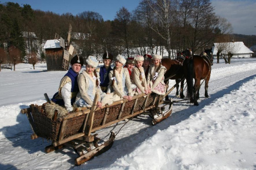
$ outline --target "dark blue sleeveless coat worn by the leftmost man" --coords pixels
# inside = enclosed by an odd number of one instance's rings
[[[67,72],[67,74],[65,76],[68,76],[71,79],[71,84],[72,84],[71,92],[78,92],[79,91],[79,87],[78,87],[78,83],[77,83],[78,74],[75,71],[73,71],[72,68],[69,68],[69,71]],[[71,105],[73,105],[75,100],[76,100],[76,96],[71,99]],[[56,92],[53,95],[52,101],[58,105],[64,105],[64,101],[62,98],[60,98],[59,92]]]

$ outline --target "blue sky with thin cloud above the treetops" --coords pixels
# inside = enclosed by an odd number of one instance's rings
[[[31,5],[32,9],[52,11],[57,14],[70,12],[73,15],[83,11],[98,12],[104,20],[113,20],[116,12],[127,8],[130,12],[136,9],[140,0],[15,0],[1,1]],[[233,27],[233,33],[256,35],[256,0],[211,0],[215,13],[226,18]]]

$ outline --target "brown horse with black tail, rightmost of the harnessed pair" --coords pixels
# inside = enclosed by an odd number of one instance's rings
[[[187,81],[188,98],[191,103],[198,106],[197,100],[199,99],[199,89],[201,80],[205,81],[205,97],[208,98],[208,82],[210,80],[210,72],[212,65],[212,52],[211,48],[205,50],[201,55],[193,55],[189,50],[185,50],[182,54],[187,58],[183,63],[184,75]],[[193,86],[193,78],[195,84]]]

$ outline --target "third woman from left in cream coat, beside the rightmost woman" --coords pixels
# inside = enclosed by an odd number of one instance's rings
[[[133,88],[134,94],[140,94],[140,93],[148,93],[147,90],[147,83],[146,83],[146,77],[144,68],[142,67],[144,57],[143,56],[135,56],[134,57],[136,64],[132,71],[132,77],[131,82],[132,84],[135,84],[136,87]]]

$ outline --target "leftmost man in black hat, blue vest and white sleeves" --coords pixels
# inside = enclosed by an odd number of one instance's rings
[[[61,79],[59,90],[52,98],[52,102],[58,105],[64,105],[69,112],[73,111],[72,105],[79,91],[77,77],[83,65],[83,59],[76,55],[71,59],[70,63],[71,68],[69,68],[67,74]]]

